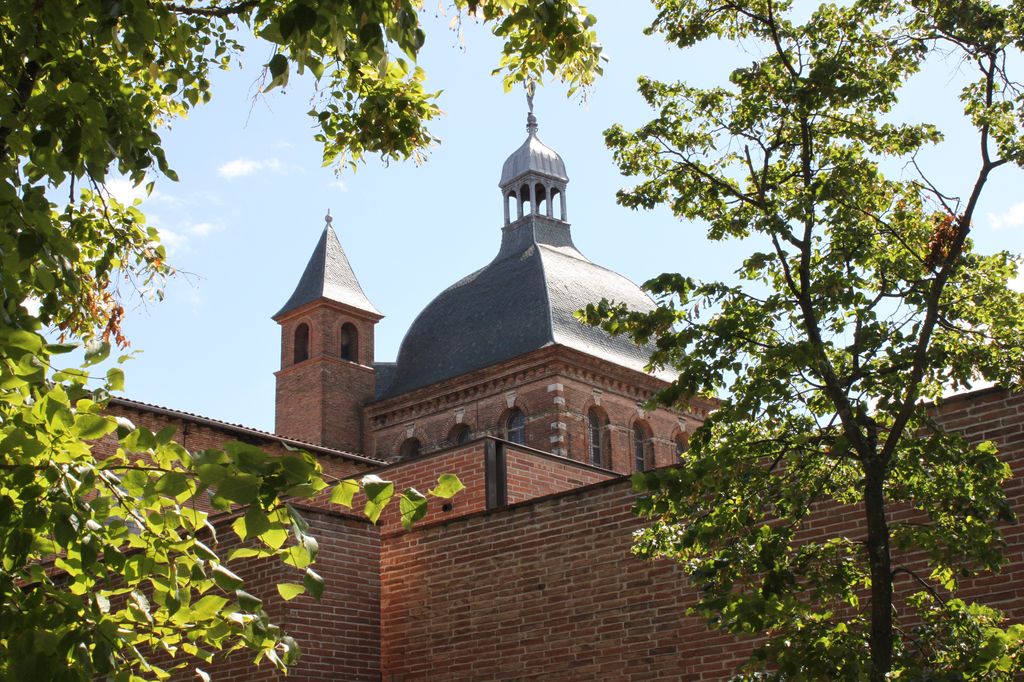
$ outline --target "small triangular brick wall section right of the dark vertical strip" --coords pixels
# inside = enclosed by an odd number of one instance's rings
[[[615,474],[593,469],[555,457],[537,453],[505,449],[506,486],[508,503],[515,504],[546,495],[564,493],[590,483],[614,478]]]

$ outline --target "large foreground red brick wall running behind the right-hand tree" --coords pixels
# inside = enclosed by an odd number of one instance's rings
[[[996,442],[1024,518],[1024,395],[982,392],[942,412],[951,427]],[[630,555],[641,525],[631,500],[628,482],[611,481],[385,536],[384,679],[728,679],[752,642],[685,615],[694,594],[676,565]],[[838,513],[822,512],[811,527],[856,537],[861,514]],[[1009,564],[965,582],[962,595],[1022,622],[1024,525],[1005,534]]]

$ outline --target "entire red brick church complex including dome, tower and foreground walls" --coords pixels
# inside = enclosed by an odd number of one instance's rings
[[[673,465],[715,404],[646,411],[671,379],[644,370],[649,348],[574,317],[602,298],[637,310],[654,304],[575,248],[565,164],[541,141],[532,114],[526,132],[502,167],[494,259],[420,312],[395,361],[375,357],[383,313],[328,216],[273,315],[274,433],[112,399],[136,424],[177,426],[188,449],[230,439],[299,446],[333,476],[377,473],[425,489],[455,473],[465,484],[411,531],[396,505],[377,524],[304,506],[321,547],[321,601],[280,598],[274,585],[294,580],[288,566],[232,565],[302,647],[289,679],[725,680],[750,652],[750,642],[687,615],[694,595],[678,565],[630,553],[642,521],[631,513],[629,474]],[[1024,511],[1024,396],[976,391],[949,400],[943,415],[996,441],[1017,474],[1009,495]],[[830,532],[858,532],[856,519],[837,523],[849,527],[834,523]],[[1022,530],[1008,530],[1011,561],[997,580],[966,585],[967,596],[984,595],[1018,622]],[[280,677],[266,663],[253,668],[246,652],[203,668],[214,680]]]

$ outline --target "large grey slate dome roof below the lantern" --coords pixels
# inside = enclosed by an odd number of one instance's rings
[[[649,348],[588,327],[573,312],[602,298],[634,310],[653,301],[621,274],[589,261],[567,223],[527,216],[503,231],[485,267],[449,287],[416,318],[381,397],[480,370],[550,345],[562,345],[643,371]]]

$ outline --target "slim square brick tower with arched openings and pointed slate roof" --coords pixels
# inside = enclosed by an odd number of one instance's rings
[[[351,453],[366,452],[362,406],[374,398],[374,327],[383,317],[362,293],[331,214],[281,325],[275,430]]]

